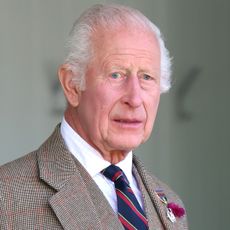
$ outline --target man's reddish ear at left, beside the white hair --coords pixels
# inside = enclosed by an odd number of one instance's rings
[[[80,102],[81,91],[76,83],[73,81],[74,77],[76,77],[73,71],[70,70],[66,64],[64,64],[59,68],[58,76],[65,97],[69,104],[73,107],[78,106]]]

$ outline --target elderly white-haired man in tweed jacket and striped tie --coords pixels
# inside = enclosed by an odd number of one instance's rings
[[[74,24],[58,74],[61,124],[0,169],[1,229],[187,229],[180,199],[132,153],[170,87],[157,27],[128,7],[93,6]]]

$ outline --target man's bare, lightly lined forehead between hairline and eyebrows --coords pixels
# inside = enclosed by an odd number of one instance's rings
[[[153,32],[140,28],[119,28],[98,30],[93,36],[94,55],[105,57],[160,59],[160,49]]]

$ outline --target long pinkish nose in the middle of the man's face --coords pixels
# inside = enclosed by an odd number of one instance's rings
[[[130,76],[127,78],[122,102],[133,108],[141,106],[142,89],[138,77]]]

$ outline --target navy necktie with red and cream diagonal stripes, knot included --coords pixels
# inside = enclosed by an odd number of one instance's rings
[[[123,171],[115,165],[110,165],[102,171],[102,174],[114,182],[117,194],[118,218],[124,228],[128,230],[148,229],[144,211],[129,186],[128,179]]]

